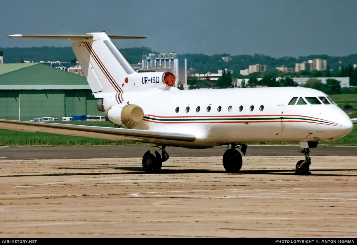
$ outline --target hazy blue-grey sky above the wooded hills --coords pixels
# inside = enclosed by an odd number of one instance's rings
[[[158,52],[357,54],[356,0],[0,0],[0,47],[70,46],[69,41],[10,39],[11,34],[147,36],[118,48]]]

